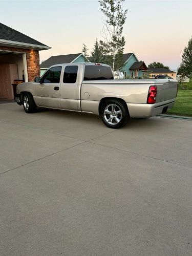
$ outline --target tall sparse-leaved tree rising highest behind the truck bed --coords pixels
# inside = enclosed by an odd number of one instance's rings
[[[99,0],[101,12],[104,14],[104,26],[100,45],[105,55],[106,61],[113,70],[123,65],[123,50],[125,39],[122,36],[123,25],[126,20],[127,10],[123,10],[125,0]],[[117,65],[116,65],[117,64]]]

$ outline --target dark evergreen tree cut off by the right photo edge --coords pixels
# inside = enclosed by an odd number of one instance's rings
[[[178,68],[179,75],[185,75],[192,78],[192,37],[188,41],[188,46],[185,47],[182,54],[182,62]]]

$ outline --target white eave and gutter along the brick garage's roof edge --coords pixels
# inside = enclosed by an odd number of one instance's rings
[[[27,44],[26,42],[16,42],[16,41],[10,41],[5,39],[0,39],[0,45],[7,46],[7,47],[22,48],[22,49],[33,49],[38,51],[51,49],[51,47],[49,46],[32,45],[32,44]]]

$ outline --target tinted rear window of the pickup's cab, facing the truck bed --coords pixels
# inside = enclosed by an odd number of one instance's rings
[[[84,81],[114,79],[110,67],[86,66],[84,69]]]

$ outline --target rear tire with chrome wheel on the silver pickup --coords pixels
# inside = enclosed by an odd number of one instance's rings
[[[120,100],[111,99],[102,104],[101,119],[106,126],[118,129],[127,123],[130,115],[124,103]]]

